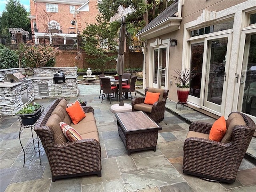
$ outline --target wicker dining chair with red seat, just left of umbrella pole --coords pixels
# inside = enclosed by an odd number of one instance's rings
[[[111,86],[110,84],[110,78],[108,77],[101,77],[100,78],[102,82],[102,100],[103,101],[103,96],[104,94],[107,94],[107,100],[110,99],[110,104],[111,104],[111,99],[112,99],[112,94],[114,94],[114,98],[118,98],[118,88],[117,86]]]

